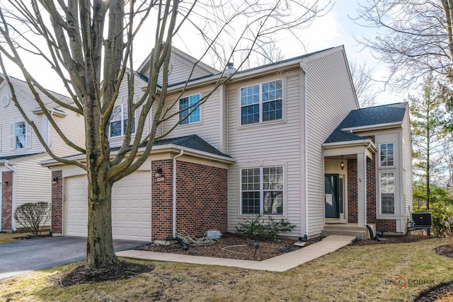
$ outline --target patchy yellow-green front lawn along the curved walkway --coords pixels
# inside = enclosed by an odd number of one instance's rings
[[[46,281],[78,265],[71,264],[1,280],[0,301],[412,301],[423,289],[453,279],[453,259],[433,250],[446,243],[348,246],[282,273],[130,260],[155,269],[69,288]],[[389,283],[398,276],[411,284]],[[424,279],[434,284],[413,284]]]

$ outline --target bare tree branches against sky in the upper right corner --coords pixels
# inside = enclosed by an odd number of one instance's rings
[[[357,12],[357,23],[378,30],[360,42],[389,66],[391,85],[406,88],[430,72],[452,79],[452,1],[367,0]]]

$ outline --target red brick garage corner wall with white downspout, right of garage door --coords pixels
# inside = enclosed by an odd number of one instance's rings
[[[173,161],[154,161],[152,171],[162,168],[164,181],[153,177],[152,236],[172,236]],[[200,237],[209,230],[226,231],[226,169],[177,161],[176,232]]]

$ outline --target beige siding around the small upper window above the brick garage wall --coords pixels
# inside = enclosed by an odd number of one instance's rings
[[[193,90],[186,92],[183,97],[188,97],[189,95],[200,94],[200,98],[207,93],[210,92],[210,88],[203,88],[202,90]],[[167,96],[167,103],[166,106],[171,105],[174,102],[175,98],[178,94],[168,95]],[[219,149],[220,142],[219,142],[219,122],[220,117],[220,107],[221,104],[219,103],[219,89],[217,88],[212,95],[200,105],[200,122],[194,122],[190,124],[180,124],[178,127],[173,129],[170,134],[166,136],[166,138],[173,138],[173,137],[184,137],[186,135],[197,134],[199,137],[210,143],[215,148]],[[179,102],[176,102],[176,105],[171,109],[170,115],[178,112],[179,110]],[[179,115],[175,115],[170,120],[164,123],[164,132],[168,131],[173,127],[174,124],[179,119]]]

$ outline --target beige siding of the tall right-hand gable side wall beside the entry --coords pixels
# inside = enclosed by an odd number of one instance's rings
[[[324,226],[324,159],[321,144],[350,110],[358,108],[343,51],[304,66],[306,71],[309,236]]]

